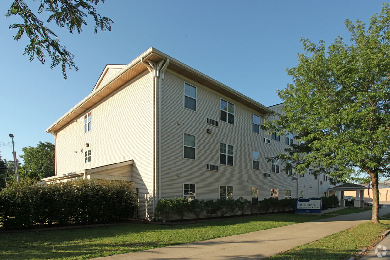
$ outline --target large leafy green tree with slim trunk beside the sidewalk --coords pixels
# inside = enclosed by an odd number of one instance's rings
[[[372,178],[372,221],[378,223],[379,176],[390,176],[390,9],[384,4],[366,29],[346,20],[347,44],[337,37],[326,50],[302,38],[305,53],[287,68],[293,84],[278,91],[283,114],[266,122],[269,132],[307,133],[310,152],[299,159],[328,168],[330,177],[348,179],[365,172]],[[296,173],[307,170],[296,166]],[[334,166],[337,165],[336,168]]]

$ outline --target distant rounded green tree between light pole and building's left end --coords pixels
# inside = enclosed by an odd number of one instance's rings
[[[54,167],[54,145],[49,142],[39,142],[37,147],[24,147],[23,155],[24,166],[21,169],[21,176],[30,179],[39,180],[55,175]],[[27,174],[25,172],[27,168]]]

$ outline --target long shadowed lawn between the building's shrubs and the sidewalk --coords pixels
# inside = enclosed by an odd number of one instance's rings
[[[129,224],[0,235],[0,259],[88,259],[293,225],[330,216],[263,215],[188,225]]]

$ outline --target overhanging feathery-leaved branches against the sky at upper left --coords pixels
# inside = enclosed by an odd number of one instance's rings
[[[34,0],[35,2],[35,0]],[[61,63],[62,74],[66,77],[66,68],[78,68],[73,62],[74,55],[66,50],[65,46],[60,44],[57,34],[38,18],[43,14],[48,14],[47,23],[54,22],[57,26],[67,28],[70,33],[75,30],[80,34],[83,25],[87,25],[86,18],[93,17],[95,22],[95,33],[100,28],[103,32],[111,30],[112,19],[101,16],[96,12],[96,6],[105,0],[39,0],[38,10],[32,12],[24,0],[13,0],[10,8],[5,14],[6,18],[11,16],[20,16],[22,23],[14,23],[9,26],[10,29],[17,29],[18,32],[13,36],[15,41],[26,35],[30,41],[27,44],[23,55],[28,55],[30,61],[35,56],[44,64],[46,53],[51,58],[50,68]]]

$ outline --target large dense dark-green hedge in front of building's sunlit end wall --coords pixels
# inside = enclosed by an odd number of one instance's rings
[[[22,181],[0,191],[2,229],[112,222],[134,218],[137,192],[124,180]]]

